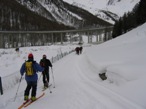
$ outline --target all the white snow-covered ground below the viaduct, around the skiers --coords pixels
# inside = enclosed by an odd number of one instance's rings
[[[146,109],[145,28],[146,24],[99,45],[84,44],[81,55],[73,52],[53,63],[52,93],[46,90],[44,97],[26,109]],[[19,54],[14,49],[0,49],[0,76],[5,79],[13,73],[20,75],[20,66],[29,52],[39,62],[43,54],[51,58],[74,48],[75,45],[20,48]],[[99,73],[106,73],[108,79],[102,81]],[[25,80],[20,83],[14,101],[18,85],[0,96],[0,109],[17,109],[22,104]],[[37,96],[42,87],[39,79]]]

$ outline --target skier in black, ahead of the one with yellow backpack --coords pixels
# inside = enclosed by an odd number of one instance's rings
[[[47,59],[46,55],[43,55],[43,58],[40,60],[40,65],[44,68],[44,71],[42,72],[43,75],[43,83],[44,88],[49,87],[49,67],[52,67],[52,63],[49,59]]]

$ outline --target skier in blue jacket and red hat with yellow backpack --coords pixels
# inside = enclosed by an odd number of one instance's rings
[[[33,60],[33,54],[28,55],[28,61],[22,64],[20,69],[20,74],[23,76],[25,72],[25,80],[27,82],[27,87],[24,92],[24,100],[29,99],[29,92],[31,91],[31,100],[36,100],[36,91],[37,91],[37,72],[42,72],[44,70],[36,61]]]

